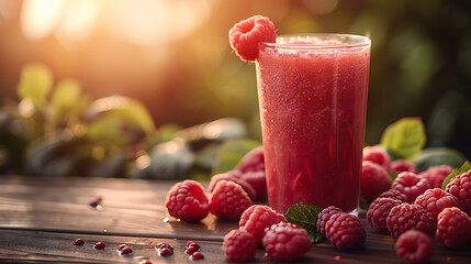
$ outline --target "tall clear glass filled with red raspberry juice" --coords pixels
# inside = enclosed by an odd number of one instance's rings
[[[358,208],[371,41],[344,34],[260,44],[257,86],[268,200]]]

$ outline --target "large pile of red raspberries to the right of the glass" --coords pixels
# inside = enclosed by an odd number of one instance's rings
[[[452,178],[442,190],[451,170],[439,165],[417,174],[412,163],[391,162],[381,146],[363,148],[361,191],[370,204],[368,222],[396,239],[402,258],[429,260],[433,238],[447,248],[471,243],[471,170]],[[388,173],[397,176],[392,180]]]

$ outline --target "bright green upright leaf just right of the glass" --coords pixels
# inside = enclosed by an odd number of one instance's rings
[[[381,145],[396,156],[412,161],[424,147],[424,124],[419,118],[403,118],[389,125],[381,138]]]

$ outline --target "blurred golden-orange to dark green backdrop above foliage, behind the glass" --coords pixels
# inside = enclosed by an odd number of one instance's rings
[[[0,99],[34,114],[15,88],[22,68],[41,63],[54,76],[51,92],[76,79],[90,100],[108,98],[93,105],[101,110],[119,95],[142,102],[156,125],[232,117],[259,140],[255,66],[231,51],[227,32],[262,14],[277,34],[371,37],[367,144],[417,116],[430,145],[471,153],[469,8],[437,0],[0,0]]]

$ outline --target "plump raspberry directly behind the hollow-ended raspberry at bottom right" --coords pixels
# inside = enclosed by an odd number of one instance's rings
[[[411,229],[433,235],[435,233],[436,219],[422,206],[403,202],[391,209],[386,218],[386,226],[394,239],[397,239],[402,233]]]

